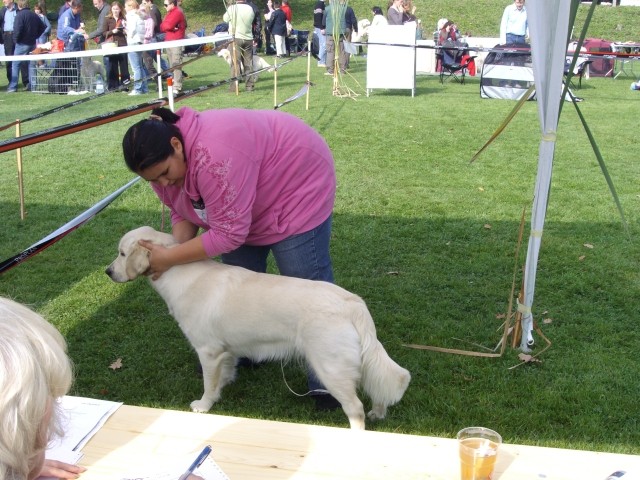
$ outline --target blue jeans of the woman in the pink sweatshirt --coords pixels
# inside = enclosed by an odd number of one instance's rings
[[[221,255],[222,261],[227,265],[264,273],[267,271],[267,256],[271,251],[281,275],[333,283],[333,268],[329,255],[331,221],[332,216],[329,216],[313,230],[292,235],[273,245],[243,245],[233,252]],[[325,390],[324,385],[310,369],[308,384],[311,391]]]

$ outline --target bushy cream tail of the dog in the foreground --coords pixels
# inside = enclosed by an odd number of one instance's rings
[[[376,337],[373,318],[364,302],[354,306],[353,325],[362,348],[362,387],[374,409],[398,403],[411,381],[411,374],[394,362]],[[383,411],[380,412],[384,416]]]

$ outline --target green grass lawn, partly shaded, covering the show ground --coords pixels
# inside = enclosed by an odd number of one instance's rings
[[[523,208],[527,221],[530,215],[537,105],[527,103],[505,133],[470,163],[512,102],[482,100],[477,78],[465,85],[441,85],[434,76],[417,78],[414,98],[393,90],[366,97],[365,69],[365,59],[353,59],[352,77],[345,81],[361,95],[352,100],[332,96],[331,80],[314,66],[309,110],[304,100],[283,110],[317,129],[335,155],[336,281],[366,300],[380,340],[412,373],[403,400],[386,420],[368,428],[453,437],[464,426],[480,424],[510,443],[640,453],[635,358],[640,341],[634,330],[640,294],[634,104],[640,93],[629,90],[631,79],[591,78],[578,91],[629,232],[573,107],[565,105],[534,303],[535,318],[552,346],[540,356],[541,363],[510,369],[518,363],[518,352],[511,349],[501,358],[482,359],[402,345],[480,350],[499,341]],[[228,75],[226,64],[215,57],[187,70],[185,89]],[[304,83],[306,61],[292,62],[278,78],[282,101]],[[0,78],[0,89],[3,82]],[[263,75],[253,94],[236,97],[223,87],[178,106],[270,109],[272,88],[272,78]],[[0,123],[70,100],[0,94]],[[108,95],[25,123],[23,133],[131,104],[125,94]],[[25,148],[24,221],[15,152],[0,155],[0,260],[133,178],[120,141],[140,118]],[[8,130],[1,138],[11,135]],[[76,368],[73,394],[188,409],[201,394],[201,378],[195,354],[166,306],[145,281],[114,284],[104,274],[121,235],[144,224],[159,228],[161,209],[149,186],[140,182],[88,224],[0,275],[0,294],[33,306],[63,332]],[[536,340],[534,351],[539,351],[544,342]],[[123,367],[110,369],[117,358]],[[284,374],[292,389],[305,391],[303,369],[286,365]],[[282,380],[280,364],[241,370],[212,412],[347,426],[341,411],[320,414],[311,401],[294,396]]]

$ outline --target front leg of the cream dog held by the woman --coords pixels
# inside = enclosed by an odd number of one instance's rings
[[[235,379],[236,359],[228,352],[209,350],[199,350],[198,358],[202,365],[204,393],[200,400],[191,402],[191,409],[194,412],[208,412],[220,400],[224,386]]]

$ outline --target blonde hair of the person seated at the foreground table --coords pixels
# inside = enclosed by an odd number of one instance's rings
[[[28,478],[50,437],[61,433],[56,399],[72,378],[60,332],[0,297],[0,479]]]

